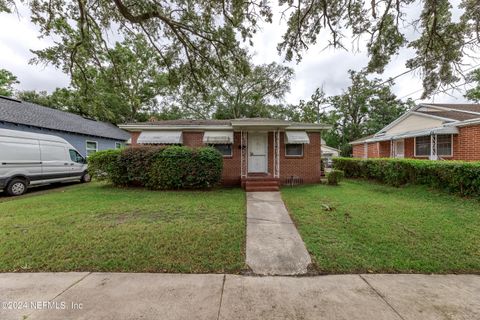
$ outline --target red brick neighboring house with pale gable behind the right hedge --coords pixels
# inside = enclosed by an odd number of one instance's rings
[[[356,158],[480,160],[480,104],[420,104],[350,143]]]

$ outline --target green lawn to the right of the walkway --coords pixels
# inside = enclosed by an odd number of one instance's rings
[[[360,180],[282,196],[321,272],[480,272],[478,200]]]

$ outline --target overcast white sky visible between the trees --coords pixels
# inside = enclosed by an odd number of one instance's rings
[[[456,5],[458,1],[452,1]],[[412,6],[409,9],[409,17],[418,15],[421,11],[420,5]],[[455,10],[457,15],[460,11]],[[454,12],[454,16],[455,16]],[[52,91],[56,87],[68,86],[69,78],[60,70],[52,66],[29,64],[33,54],[30,50],[43,49],[52,42],[51,39],[40,39],[38,28],[30,22],[28,10],[20,7],[20,14],[0,13],[0,68],[7,69],[17,75],[20,84],[19,90],[46,90]],[[283,58],[276,50],[277,43],[281,41],[282,33],[285,30],[285,22],[280,21],[279,16],[274,16],[272,24],[262,25],[262,30],[254,38],[254,46],[250,48],[254,54],[254,62],[270,63],[276,61],[284,63]],[[407,29],[407,37],[416,36],[413,30]],[[321,34],[320,43],[310,47],[304,54],[300,63],[288,63],[295,70],[295,79],[291,85],[291,92],[286,97],[288,103],[298,103],[300,99],[308,99],[317,87],[324,87],[327,95],[341,93],[349,85],[347,71],[349,69],[359,70],[366,66],[368,57],[366,50],[360,46],[359,52],[325,49],[327,34]],[[350,42],[345,40],[348,48]],[[405,61],[412,56],[412,52],[402,49],[400,54],[394,57],[386,68],[383,79],[394,77],[406,71]],[[479,61],[466,61],[464,70],[471,68]],[[398,97],[419,99],[421,91],[421,80],[418,74],[409,73],[398,78],[393,88]],[[432,97],[429,102],[465,102],[463,92],[468,86],[459,87],[459,91],[438,94]],[[422,100],[417,100],[421,102]]]

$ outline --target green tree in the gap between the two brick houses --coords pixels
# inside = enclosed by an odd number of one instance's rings
[[[284,113],[294,121],[330,124],[332,129],[322,138],[343,156],[351,155],[349,142],[378,132],[413,106],[392,93],[392,81],[370,80],[366,73],[352,70],[349,76],[351,85],[342,94],[325,96],[318,88],[309,101],[289,106]]]

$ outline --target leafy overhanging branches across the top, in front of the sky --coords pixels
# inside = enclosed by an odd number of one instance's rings
[[[17,2],[21,1],[1,0],[0,11],[13,12]],[[27,4],[40,36],[59,39],[35,53],[42,62],[62,68],[72,78],[89,78],[92,66],[100,72],[105,67],[115,68],[108,36],[118,32],[120,39],[145,39],[152,59],[161,62],[159,73],[168,72],[171,78],[196,87],[197,92],[228,76],[231,68],[226,65],[243,68],[248,57],[237,38],[253,45],[262,22],[273,22],[274,9],[282,22],[286,21],[277,49],[287,61],[301,60],[319,41],[347,49],[345,39],[355,39],[354,43],[367,43],[367,71],[383,72],[392,57],[408,48],[415,56],[406,66],[423,77],[424,96],[458,80],[463,60],[476,52],[480,39],[478,0],[460,0],[455,8],[448,0],[204,0],[194,4],[114,0],[95,5],[67,0],[52,5],[49,0],[38,0]],[[412,14],[419,5],[420,16]],[[452,17],[454,11],[458,19]],[[353,45],[352,51],[358,49]],[[118,72],[111,76],[121,85],[129,84]],[[134,78],[134,74],[129,76]]]

